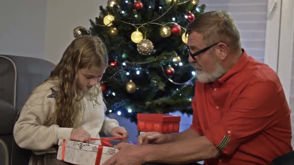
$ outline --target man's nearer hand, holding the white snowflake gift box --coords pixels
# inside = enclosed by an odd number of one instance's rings
[[[144,151],[140,150],[140,146],[129,143],[120,143],[115,148],[120,151],[108,159],[103,165],[142,165]]]

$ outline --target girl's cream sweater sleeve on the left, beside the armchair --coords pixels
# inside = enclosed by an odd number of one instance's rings
[[[55,96],[54,88],[40,85],[25,102],[13,129],[19,147],[34,151],[47,150],[57,145],[58,139],[70,139],[72,128],[45,125],[55,111]]]

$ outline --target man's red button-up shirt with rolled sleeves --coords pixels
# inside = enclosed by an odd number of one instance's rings
[[[196,83],[191,129],[220,151],[206,165],[268,165],[292,151],[291,121],[282,84],[244,51],[214,83]]]

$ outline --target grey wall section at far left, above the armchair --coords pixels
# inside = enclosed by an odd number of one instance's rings
[[[0,54],[44,59],[46,0],[1,0]]]

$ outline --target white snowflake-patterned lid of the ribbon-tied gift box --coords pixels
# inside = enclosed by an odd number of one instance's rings
[[[58,140],[58,146],[62,146],[63,139]],[[77,150],[84,150],[84,151],[90,151],[90,152],[96,152],[98,151],[98,145],[89,144],[89,143],[82,143],[78,141],[71,141],[71,140],[65,140],[65,147],[67,148],[73,148]],[[105,147],[103,146],[103,154],[110,154],[114,155],[118,152],[118,149],[112,148],[112,147]]]

